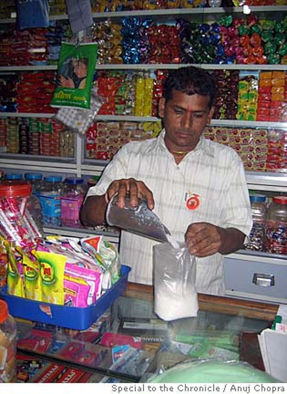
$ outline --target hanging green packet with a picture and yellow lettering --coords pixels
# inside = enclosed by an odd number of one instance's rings
[[[90,109],[98,45],[62,43],[52,107]]]

